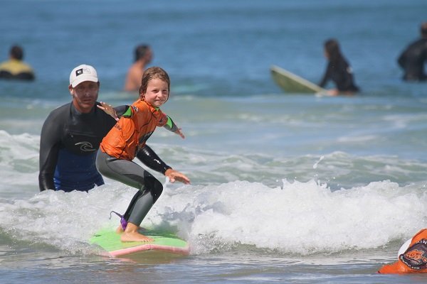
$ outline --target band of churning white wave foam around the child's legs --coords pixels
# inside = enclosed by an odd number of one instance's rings
[[[14,239],[88,249],[103,226],[114,228],[135,190],[108,182],[89,193],[41,192],[0,209],[1,229]],[[193,253],[252,245],[283,253],[333,253],[381,248],[426,226],[427,195],[418,187],[371,182],[332,192],[314,180],[271,188],[258,182],[166,187],[142,226],[173,229]]]

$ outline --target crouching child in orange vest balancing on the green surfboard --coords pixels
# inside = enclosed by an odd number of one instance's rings
[[[142,75],[139,99],[131,106],[127,106],[125,114],[120,119],[109,104],[101,102],[100,109],[115,117],[117,124],[100,144],[96,159],[97,170],[107,178],[138,189],[122,216],[121,227],[117,229],[117,231],[123,231],[122,241],[152,241],[149,237],[140,234],[138,229],[163,190],[159,180],[137,163],[132,162],[137,151],[144,147],[157,126],[164,126],[184,138],[181,129],[159,109],[169,98],[169,88],[170,80],[167,72],[160,67],[150,67]],[[164,173],[171,182],[179,180],[184,184],[190,183],[189,178],[184,174],[172,170],[159,160],[157,162],[147,165]]]

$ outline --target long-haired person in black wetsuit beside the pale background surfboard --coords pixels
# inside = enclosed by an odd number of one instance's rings
[[[325,87],[327,82],[332,80],[336,85],[335,89],[328,90],[332,96],[359,92],[359,87],[354,84],[352,67],[342,55],[337,40],[330,39],[325,42],[325,58],[328,60],[327,69],[319,86]]]

